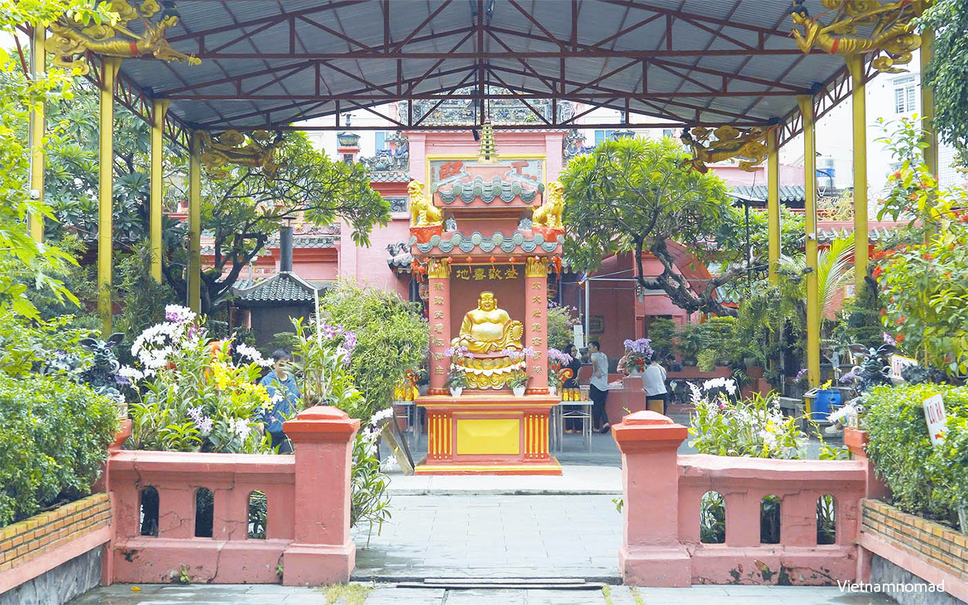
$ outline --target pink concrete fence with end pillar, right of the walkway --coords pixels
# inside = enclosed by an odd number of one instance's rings
[[[677,454],[685,427],[651,411],[613,427],[622,455],[625,584],[829,585],[858,577],[864,460],[768,460]],[[725,501],[725,543],[700,541],[700,502]],[[779,542],[760,542],[761,502],[779,499]],[[833,544],[817,544],[817,500],[832,496]]]

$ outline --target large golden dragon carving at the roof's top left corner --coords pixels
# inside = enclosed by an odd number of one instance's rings
[[[111,0],[107,4],[118,15],[115,23],[93,23],[85,26],[64,16],[50,24],[51,36],[46,48],[47,52],[54,55],[54,65],[77,68],[81,75],[85,75],[90,67],[84,62],[83,55],[89,50],[108,57],[154,57],[169,63],[201,63],[201,59],[195,56],[178,52],[165,39],[166,30],[177,23],[179,18],[174,2],[144,0],[137,8],[125,0]],[[128,27],[135,19],[144,23],[144,32],[141,34],[136,34]]]

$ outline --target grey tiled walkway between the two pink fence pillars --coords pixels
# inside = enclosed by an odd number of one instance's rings
[[[367,544],[359,580],[577,577],[619,582],[618,496],[396,496]]]

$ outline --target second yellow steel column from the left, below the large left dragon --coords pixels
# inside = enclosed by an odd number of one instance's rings
[[[112,195],[114,188],[114,76],[121,59],[105,58],[101,66],[101,122],[98,160],[98,313],[111,331]]]

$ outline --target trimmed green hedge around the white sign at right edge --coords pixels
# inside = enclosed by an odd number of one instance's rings
[[[948,413],[943,445],[927,435],[923,400],[941,393]],[[968,505],[968,387],[938,384],[882,386],[867,394],[863,428],[867,454],[907,512],[954,524]]]

